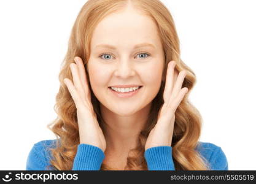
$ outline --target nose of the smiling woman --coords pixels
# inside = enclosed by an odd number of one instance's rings
[[[115,68],[115,77],[128,78],[135,75],[134,66],[129,59],[120,59]]]

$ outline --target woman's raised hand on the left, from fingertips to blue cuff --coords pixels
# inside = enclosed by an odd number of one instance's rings
[[[71,63],[69,66],[74,85],[67,78],[64,79],[64,83],[76,104],[80,144],[94,145],[104,152],[106,150],[106,139],[91,104],[91,92],[85,75],[85,67],[80,57],[76,56],[74,60],[76,63]]]

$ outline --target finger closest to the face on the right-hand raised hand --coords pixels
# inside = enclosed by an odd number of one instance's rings
[[[171,97],[171,93],[173,90],[173,75],[174,75],[175,65],[176,65],[175,61],[171,61],[168,63],[168,69],[166,72],[166,80],[165,80],[165,90],[163,93],[163,99],[166,103],[169,101],[169,98]]]

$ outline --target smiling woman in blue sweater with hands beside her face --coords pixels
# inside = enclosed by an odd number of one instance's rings
[[[160,1],[87,1],[59,79],[58,139],[34,144],[27,170],[228,169],[220,147],[198,141],[196,76]]]

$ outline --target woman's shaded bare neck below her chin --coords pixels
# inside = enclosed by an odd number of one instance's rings
[[[103,132],[107,143],[106,151],[122,155],[135,148],[149,116],[150,107],[151,103],[132,115],[120,116],[101,105],[101,115],[105,121]]]

